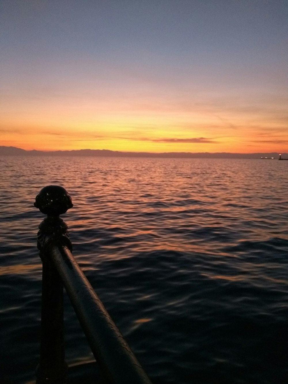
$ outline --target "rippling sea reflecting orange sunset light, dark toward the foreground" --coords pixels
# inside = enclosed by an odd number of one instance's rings
[[[0,162],[1,383],[35,380],[33,202],[49,184],[71,195],[73,255],[155,384],[288,382],[288,161]],[[93,360],[66,295],[65,343],[68,364]]]

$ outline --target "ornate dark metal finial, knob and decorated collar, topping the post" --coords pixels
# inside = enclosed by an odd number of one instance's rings
[[[48,185],[36,196],[34,207],[47,217],[39,225],[37,247],[43,258],[46,247],[52,242],[63,243],[72,251],[66,223],[59,217],[73,207],[70,195],[60,185]]]

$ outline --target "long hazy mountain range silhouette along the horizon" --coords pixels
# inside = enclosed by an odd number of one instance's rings
[[[271,153],[229,153],[229,152],[120,152],[109,149],[79,149],[72,151],[26,151],[17,147],[0,146],[0,155],[13,156],[101,156],[101,157],[179,157],[179,158],[210,158],[210,159],[261,159],[261,157],[274,157],[278,159],[278,152]],[[282,158],[288,158],[287,153],[282,153]]]

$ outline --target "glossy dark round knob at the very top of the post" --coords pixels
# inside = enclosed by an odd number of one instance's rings
[[[48,185],[40,190],[36,196],[34,207],[48,216],[59,216],[65,214],[73,207],[71,196],[65,188],[60,185]]]

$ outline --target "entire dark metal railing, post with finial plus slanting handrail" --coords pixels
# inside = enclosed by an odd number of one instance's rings
[[[151,384],[73,258],[67,225],[59,217],[73,207],[66,189],[58,185],[44,187],[36,196],[34,205],[47,215],[39,225],[37,241],[43,263],[41,345],[40,363],[36,369],[37,383],[65,382],[67,364],[63,337],[64,285],[107,382]]]

